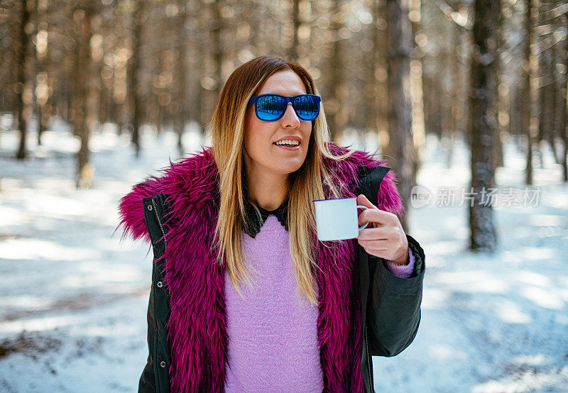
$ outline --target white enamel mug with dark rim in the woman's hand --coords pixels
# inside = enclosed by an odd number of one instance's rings
[[[321,241],[354,239],[359,231],[368,226],[368,222],[359,226],[357,208],[368,209],[358,205],[357,197],[338,199],[318,199],[315,205],[315,223],[317,238]]]

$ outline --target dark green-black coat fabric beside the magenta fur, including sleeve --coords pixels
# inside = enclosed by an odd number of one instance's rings
[[[378,187],[386,176],[388,167],[362,167],[359,171],[361,185],[357,194],[365,194],[373,201]],[[163,215],[167,194],[156,194],[143,199],[146,228],[153,244],[154,261],[165,253],[167,233],[164,232]],[[158,241],[163,235],[165,241]],[[425,255],[420,244],[408,234],[410,250],[415,255],[415,270],[409,278],[393,275],[383,258],[366,253],[358,245],[361,306],[364,326],[361,371],[366,392],[373,387],[373,362],[371,356],[398,355],[413,342],[420,325],[422,282],[425,273]],[[154,262],[152,286],[148,303],[148,362],[140,377],[138,392],[170,392],[168,368],[170,343],[165,324],[170,315],[170,298],[163,285],[164,266]]]

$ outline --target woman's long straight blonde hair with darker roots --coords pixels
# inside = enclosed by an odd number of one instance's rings
[[[283,70],[295,72],[302,79],[307,94],[320,95],[312,77],[301,65],[278,57],[256,57],[234,70],[227,79],[212,120],[207,126],[207,133],[212,135],[213,155],[219,170],[219,216],[214,232],[214,244],[218,251],[217,262],[222,264],[225,258],[226,271],[229,272],[231,282],[241,297],[241,281],[245,279],[249,287],[251,286],[251,276],[241,258],[241,224],[245,228],[251,225],[244,204],[246,168],[243,145],[246,109],[249,99],[256,95],[266,79]],[[328,142],[329,130],[321,104],[320,116],[312,121],[307,156],[302,167],[289,175],[288,190],[290,255],[297,287],[300,292],[306,294],[312,304],[317,304],[314,283],[315,272],[319,269],[315,262],[311,236],[311,231],[316,230],[312,201],[343,196],[343,190],[334,185],[337,179],[332,179],[333,174],[324,167],[323,157],[344,160],[356,151],[349,150],[344,155],[334,156],[327,148]],[[330,195],[324,194],[324,184],[327,185]],[[260,211],[256,206],[254,208],[260,216]],[[248,260],[246,262],[253,268]]]

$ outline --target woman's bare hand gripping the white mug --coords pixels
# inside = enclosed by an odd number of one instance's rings
[[[406,265],[409,261],[408,239],[398,217],[378,209],[364,194],[357,196],[357,204],[368,207],[359,214],[359,224],[371,223],[359,231],[357,241],[361,247],[368,254]]]

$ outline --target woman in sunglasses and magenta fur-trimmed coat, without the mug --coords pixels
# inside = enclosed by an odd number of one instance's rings
[[[329,143],[312,78],[275,57],[231,74],[209,131],[120,202],[154,253],[139,391],[373,392],[371,355],[415,337],[425,270],[393,173]],[[350,196],[372,225],[318,241],[312,201]]]

